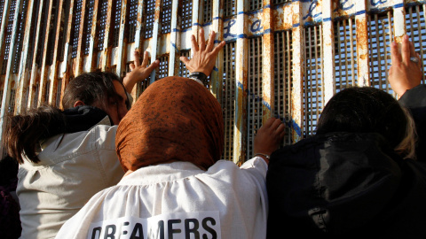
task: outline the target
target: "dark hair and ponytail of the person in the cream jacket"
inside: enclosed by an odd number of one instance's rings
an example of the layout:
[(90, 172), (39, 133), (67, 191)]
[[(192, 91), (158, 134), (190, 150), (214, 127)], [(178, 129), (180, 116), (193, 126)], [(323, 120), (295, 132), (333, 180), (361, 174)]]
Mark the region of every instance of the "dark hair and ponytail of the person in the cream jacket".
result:
[[(76, 101), (86, 105), (96, 103), (106, 107), (109, 97), (116, 97), (113, 81), (120, 81), (115, 73), (83, 73), (70, 81), (62, 99), (64, 109), (73, 108)], [(120, 81), (121, 82), (121, 81)], [(104, 108), (105, 109), (105, 108)], [(22, 154), (34, 163), (40, 162), (37, 148), (40, 141), (65, 133), (67, 120), (58, 108), (44, 105), (26, 114), (12, 116), (4, 134), (7, 153), (22, 164)]]

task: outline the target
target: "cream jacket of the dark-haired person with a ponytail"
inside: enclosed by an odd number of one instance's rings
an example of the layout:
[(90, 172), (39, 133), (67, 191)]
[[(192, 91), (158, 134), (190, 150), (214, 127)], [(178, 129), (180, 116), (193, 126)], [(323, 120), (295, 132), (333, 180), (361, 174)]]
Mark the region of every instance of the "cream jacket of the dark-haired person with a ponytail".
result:
[(66, 220), (102, 189), (119, 182), (117, 126), (106, 116), (88, 131), (56, 135), (42, 144), (41, 162), (20, 165), (21, 238), (53, 238)]

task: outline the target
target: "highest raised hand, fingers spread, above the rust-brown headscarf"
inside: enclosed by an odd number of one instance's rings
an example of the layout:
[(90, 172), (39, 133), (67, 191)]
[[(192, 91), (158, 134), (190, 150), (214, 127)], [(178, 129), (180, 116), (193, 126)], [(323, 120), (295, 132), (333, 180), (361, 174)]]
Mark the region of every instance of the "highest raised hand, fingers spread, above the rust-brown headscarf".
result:
[(185, 64), (186, 68), (191, 73), (201, 72), (209, 75), (213, 70), (213, 67), (216, 64), (217, 53), (225, 46), (225, 41), (220, 42), (216, 47), (215, 46), (215, 36), (214, 31), (211, 32), (209, 36), (209, 42), (206, 46), (206, 41), (204, 38), (204, 30), (201, 28), (199, 33), (199, 41), (195, 40), (195, 36), (191, 36), (193, 58), (189, 60), (186, 57), (180, 57), (180, 60)]

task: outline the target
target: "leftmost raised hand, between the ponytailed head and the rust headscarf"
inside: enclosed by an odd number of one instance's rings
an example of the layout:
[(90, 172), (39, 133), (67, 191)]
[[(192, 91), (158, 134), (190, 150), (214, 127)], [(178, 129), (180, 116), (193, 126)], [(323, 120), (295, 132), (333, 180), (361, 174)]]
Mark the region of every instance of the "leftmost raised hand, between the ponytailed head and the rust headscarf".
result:
[(144, 81), (154, 71), (154, 69), (160, 66), (160, 61), (157, 59), (151, 65), (148, 66), (148, 52), (145, 51), (144, 59), (142, 64), (140, 63), (139, 52), (135, 50), (134, 61), (130, 64), (130, 73), (127, 73), (122, 84), (126, 88), (127, 92), (131, 93), (131, 90), (136, 83)]

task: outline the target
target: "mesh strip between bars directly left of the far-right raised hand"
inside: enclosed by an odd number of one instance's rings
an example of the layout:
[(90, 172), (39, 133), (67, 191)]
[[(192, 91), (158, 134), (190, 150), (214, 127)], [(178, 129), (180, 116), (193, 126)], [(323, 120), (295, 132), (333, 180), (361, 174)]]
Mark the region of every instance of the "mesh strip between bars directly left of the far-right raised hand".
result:
[(371, 86), (392, 92), (387, 81), (390, 61), (390, 42), (393, 41), (391, 12), (368, 16), (368, 48)]

